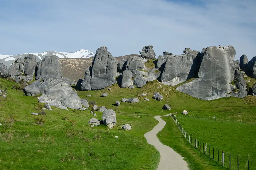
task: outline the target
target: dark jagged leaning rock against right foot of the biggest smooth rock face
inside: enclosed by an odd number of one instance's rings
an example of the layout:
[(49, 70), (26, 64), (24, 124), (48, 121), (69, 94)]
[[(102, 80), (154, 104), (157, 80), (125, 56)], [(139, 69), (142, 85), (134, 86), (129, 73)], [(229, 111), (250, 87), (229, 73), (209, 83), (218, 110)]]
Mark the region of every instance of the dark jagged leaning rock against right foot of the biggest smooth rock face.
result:
[(238, 97), (238, 98), (243, 98), (247, 96), (247, 91), (246, 91), (246, 81), (243, 78), (242, 73), (239, 70), (235, 71), (235, 84), (236, 87), (239, 89), (239, 92), (233, 92), (230, 95), (233, 97)]

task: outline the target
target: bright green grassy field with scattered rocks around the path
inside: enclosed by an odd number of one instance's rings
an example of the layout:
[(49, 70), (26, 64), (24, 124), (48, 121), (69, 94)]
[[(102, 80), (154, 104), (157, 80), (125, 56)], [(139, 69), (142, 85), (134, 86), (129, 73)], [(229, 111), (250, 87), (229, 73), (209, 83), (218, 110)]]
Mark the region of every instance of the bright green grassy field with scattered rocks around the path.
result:
[[(1, 89), (7, 88), (8, 93), (7, 99), (0, 101), (0, 123), (3, 124), (0, 126), (0, 169), (156, 169), (159, 153), (147, 144), (143, 135), (158, 123), (154, 116), (174, 112), (178, 112), (178, 120), (194, 137), (232, 154), (256, 157), (253, 136), (256, 105), (253, 102), (245, 104), (243, 99), (230, 97), (202, 101), (157, 81), (143, 88), (121, 89), (114, 84), (111, 91), (78, 91), (80, 98), (89, 103), (95, 101), (99, 107), (103, 105), (116, 112), (115, 128), (106, 130), (108, 127), (103, 125), (87, 126), (93, 117), (90, 109), (67, 111), (52, 107), (49, 113), (30, 115), (31, 112), (41, 112), (44, 104), (38, 103), (36, 97), (25, 96), (23, 91), (13, 89), (13, 82), (5, 79), (0, 82)], [(155, 91), (164, 96), (163, 101), (152, 99)], [(103, 92), (108, 96), (100, 97)], [(141, 93), (148, 95), (141, 97)], [(88, 94), (91, 97), (86, 97)], [(130, 97), (138, 97), (140, 102), (121, 102), (120, 106), (114, 106), (116, 100)], [(145, 97), (150, 101), (143, 100)], [(162, 107), (168, 103), (173, 110), (164, 111)], [(181, 115), (182, 110), (188, 110), (189, 115)], [(101, 120), (102, 112), (96, 114)], [(213, 116), (218, 119), (212, 119)], [(36, 124), (38, 119), (44, 123)], [(158, 134), (159, 139), (184, 156), (190, 169), (223, 169), (219, 163), (200, 155), (185, 143), (170, 117), (164, 120), (167, 124)], [(121, 130), (124, 124), (131, 124), (132, 130)], [(184, 149), (181, 150), (177, 146), (182, 141), (181, 148)]]

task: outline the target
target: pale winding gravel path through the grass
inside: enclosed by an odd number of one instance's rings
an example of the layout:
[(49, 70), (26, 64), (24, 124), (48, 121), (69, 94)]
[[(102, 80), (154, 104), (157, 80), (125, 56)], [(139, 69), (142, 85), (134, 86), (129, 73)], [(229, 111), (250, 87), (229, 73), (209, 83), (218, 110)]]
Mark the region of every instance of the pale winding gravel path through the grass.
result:
[[(165, 116), (169, 116), (167, 114)], [(176, 153), (172, 148), (162, 144), (156, 137), (157, 133), (161, 131), (166, 122), (161, 119), (162, 116), (155, 116), (154, 118), (159, 121), (159, 123), (149, 132), (147, 132), (144, 137), (147, 139), (147, 143), (156, 147), (160, 153), (160, 163), (157, 170), (189, 170), (188, 164), (183, 157)]]

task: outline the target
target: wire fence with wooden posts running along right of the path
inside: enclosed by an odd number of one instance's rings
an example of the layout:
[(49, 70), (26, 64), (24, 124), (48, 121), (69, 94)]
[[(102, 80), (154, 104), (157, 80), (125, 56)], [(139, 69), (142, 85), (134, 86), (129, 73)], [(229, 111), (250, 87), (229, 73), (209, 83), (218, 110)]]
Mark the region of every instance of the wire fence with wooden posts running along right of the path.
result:
[(204, 141), (199, 141), (196, 138), (193, 138), (193, 136), (189, 135), (187, 131), (182, 127), (182, 125), (179, 124), (174, 114), (171, 114), (170, 116), (173, 118), (179, 130), (185, 136), (186, 140), (191, 144), (191, 146), (197, 150), (200, 150), (203, 154), (209, 156), (213, 160), (219, 162), (225, 168), (237, 170), (256, 169), (256, 163), (254, 160), (224, 152), (223, 150), (211, 146)]

